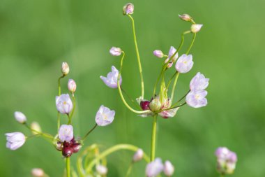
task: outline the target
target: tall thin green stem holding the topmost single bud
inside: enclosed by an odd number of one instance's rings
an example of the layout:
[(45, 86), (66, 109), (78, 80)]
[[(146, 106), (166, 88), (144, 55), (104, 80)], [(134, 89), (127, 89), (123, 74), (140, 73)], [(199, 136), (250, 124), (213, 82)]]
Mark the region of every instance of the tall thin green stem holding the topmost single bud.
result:
[(132, 20), (132, 33), (133, 33), (133, 40), (135, 41), (135, 50), (136, 50), (136, 56), (137, 56), (137, 62), (139, 66), (139, 73), (141, 78), (141, 87), (142, 87), (142, 98), (144, 98), (144, 78), (142, 74), (142, 65), (141, 65), (141, 59), (139, 55), (137, 40), (136, 40), (136, 34), (135, 34), (135, 20), (133, 20), (133, 17), (129, 14), (128, 17), (130, 17), (130, 20)]

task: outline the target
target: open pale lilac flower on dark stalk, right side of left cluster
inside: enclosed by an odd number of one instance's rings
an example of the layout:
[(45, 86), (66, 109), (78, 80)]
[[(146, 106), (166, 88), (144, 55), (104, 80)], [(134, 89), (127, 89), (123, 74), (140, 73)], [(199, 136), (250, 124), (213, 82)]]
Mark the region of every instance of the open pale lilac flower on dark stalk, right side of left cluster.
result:
[(98, 126), (106, 126), (114, 120), (115, 111), (101, 105), (96, 114), (96, 123)]

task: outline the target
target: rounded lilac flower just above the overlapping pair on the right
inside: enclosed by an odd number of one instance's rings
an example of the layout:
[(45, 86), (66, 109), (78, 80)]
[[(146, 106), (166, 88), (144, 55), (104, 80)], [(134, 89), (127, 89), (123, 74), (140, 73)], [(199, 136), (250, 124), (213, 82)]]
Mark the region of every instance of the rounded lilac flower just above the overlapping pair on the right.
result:
[(190, 69), (192, 69), (193, 61), (192, 61), (192, 55), (181, 55), (179, 57), (178, 61), (176, 61), (176, 71), (179, 73), (188, 73)]

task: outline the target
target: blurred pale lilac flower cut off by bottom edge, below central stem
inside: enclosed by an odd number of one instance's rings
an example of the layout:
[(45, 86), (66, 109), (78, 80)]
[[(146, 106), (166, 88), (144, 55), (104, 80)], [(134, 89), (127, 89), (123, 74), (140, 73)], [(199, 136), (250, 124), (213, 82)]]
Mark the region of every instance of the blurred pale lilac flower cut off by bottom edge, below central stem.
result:
[(145, 174), (147, 177), (158, 176), (164, 169), (162, 161), (160, 158), (156, 158), (153, 162), (146, 165)]

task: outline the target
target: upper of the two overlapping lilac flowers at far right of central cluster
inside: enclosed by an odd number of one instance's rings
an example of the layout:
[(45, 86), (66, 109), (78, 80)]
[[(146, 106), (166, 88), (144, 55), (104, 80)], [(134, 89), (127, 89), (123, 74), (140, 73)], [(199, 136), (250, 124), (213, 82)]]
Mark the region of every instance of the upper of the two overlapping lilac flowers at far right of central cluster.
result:
[(202, 73), (197, 73), (190, 81), (190, 90), (204, 90), (209, 85), (209, 78), (205, 78)]

